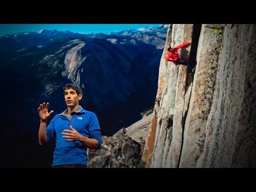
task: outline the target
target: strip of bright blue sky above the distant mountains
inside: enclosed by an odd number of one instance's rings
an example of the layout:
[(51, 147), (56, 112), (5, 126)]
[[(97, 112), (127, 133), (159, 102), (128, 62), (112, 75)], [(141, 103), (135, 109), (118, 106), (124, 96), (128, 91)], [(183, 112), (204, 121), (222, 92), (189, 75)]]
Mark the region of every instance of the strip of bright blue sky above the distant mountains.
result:
[(0, 24), (0, 36), (17, 34), (20, 32), (37, 32), (40, 29), (69, 30), (74, 33), (109, 33), (125, 29), (138, 29), (141, 27), (159, 27), (160, 24)]

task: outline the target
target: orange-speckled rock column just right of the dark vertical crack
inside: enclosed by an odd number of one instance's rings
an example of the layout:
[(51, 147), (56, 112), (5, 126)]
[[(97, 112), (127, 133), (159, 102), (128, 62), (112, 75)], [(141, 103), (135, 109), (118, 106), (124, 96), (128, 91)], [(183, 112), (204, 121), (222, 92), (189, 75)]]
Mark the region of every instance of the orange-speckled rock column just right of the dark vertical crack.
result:
[(194, 167), (202, 154), (205, 124), (210, 112), (218, 69), (222, 33), (202, 26), (197, 48), (197, 67), (186, 118), (180, 167)]

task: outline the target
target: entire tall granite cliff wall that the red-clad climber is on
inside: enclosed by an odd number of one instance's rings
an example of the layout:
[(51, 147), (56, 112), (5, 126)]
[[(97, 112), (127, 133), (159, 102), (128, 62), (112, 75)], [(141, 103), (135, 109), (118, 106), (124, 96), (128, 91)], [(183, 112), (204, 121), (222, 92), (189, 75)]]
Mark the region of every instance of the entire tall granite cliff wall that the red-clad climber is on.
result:
[[(256, 27), (198, 28), (169, 26), (142, 159), (147, 167), (255, 167)], [(194, 75), (164, 60), (169, 45), (192, 40), (180, 55)]]

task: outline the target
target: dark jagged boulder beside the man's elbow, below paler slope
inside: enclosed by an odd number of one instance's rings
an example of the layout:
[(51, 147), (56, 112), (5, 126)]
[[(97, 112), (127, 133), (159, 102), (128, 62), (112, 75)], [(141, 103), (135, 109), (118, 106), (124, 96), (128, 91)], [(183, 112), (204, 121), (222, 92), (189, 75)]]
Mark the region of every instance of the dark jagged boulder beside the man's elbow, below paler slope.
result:
[(99, 150), (89, 149), (88, 168), (143, 168), (143, 146), (127, 135), (102, 137)]

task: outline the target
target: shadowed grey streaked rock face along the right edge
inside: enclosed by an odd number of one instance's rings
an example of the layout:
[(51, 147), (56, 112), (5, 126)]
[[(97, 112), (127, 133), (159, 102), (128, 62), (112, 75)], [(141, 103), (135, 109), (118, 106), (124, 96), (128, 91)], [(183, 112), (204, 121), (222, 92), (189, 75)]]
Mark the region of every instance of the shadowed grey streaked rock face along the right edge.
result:
[(203, 154), (197, 167), (256, 166), (256, 27), (225, 28)]

